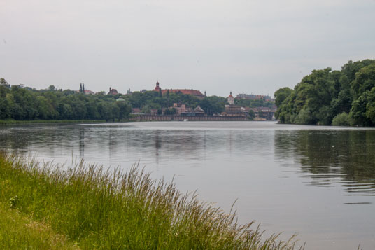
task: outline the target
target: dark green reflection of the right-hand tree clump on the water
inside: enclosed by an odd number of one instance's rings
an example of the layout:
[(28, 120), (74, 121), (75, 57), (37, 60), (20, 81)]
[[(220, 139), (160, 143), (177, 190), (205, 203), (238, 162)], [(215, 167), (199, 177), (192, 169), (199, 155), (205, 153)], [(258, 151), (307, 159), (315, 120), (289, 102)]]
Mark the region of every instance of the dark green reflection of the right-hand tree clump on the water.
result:
[(311, 184), (340, 183), (346, 195), (375, 195), (375, 130), (276, 130), (275, 155)]

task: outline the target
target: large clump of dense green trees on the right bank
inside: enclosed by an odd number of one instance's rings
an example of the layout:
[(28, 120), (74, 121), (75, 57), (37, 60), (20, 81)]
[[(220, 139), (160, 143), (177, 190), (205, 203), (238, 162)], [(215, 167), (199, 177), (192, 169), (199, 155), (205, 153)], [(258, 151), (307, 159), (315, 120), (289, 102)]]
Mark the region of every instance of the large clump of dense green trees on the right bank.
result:
[(292, 90), (275, 92), (281, 123), (375, 125), (375, 60), (349, 61), (340, 71), (313, 70)]

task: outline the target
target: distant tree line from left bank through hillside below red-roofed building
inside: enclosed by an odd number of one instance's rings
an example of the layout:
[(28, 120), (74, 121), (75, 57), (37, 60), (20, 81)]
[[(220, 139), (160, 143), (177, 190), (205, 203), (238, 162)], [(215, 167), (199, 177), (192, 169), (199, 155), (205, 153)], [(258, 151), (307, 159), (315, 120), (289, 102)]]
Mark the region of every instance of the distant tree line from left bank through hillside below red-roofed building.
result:
[[(121, 101), (117, 100), (121, 97)], [(79, 91), (57, 90), (50, 85), (46, 90), (36, 90), (22, 85), (10, 85), (0, 78), (0, 120), (123, 120), (130, 116), (132, 108), (142, 113), (174, 114), (174, 103), (185, 104), (192, 109), (200, 106), (208, 116), (225, 110), (225, 97), (210, 96), (199, 99), (181, 92), (142, 91), (132, 95), (106, 95), (99, 92), (85, 95), (85, 85)], [(264, 99), (235, 99), (239, 106), (272, 106)]]

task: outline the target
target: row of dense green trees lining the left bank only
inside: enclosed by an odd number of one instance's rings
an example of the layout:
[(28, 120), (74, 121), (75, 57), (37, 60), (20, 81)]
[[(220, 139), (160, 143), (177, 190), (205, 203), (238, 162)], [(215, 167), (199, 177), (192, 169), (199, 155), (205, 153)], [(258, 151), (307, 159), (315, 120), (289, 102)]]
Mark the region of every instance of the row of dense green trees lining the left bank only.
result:
[(112, 95), (84, 95), (72, 90), (31, 90), (4, 79), (0, 85), (0, 120), (113, 120), (127, 118), (129, 105)]

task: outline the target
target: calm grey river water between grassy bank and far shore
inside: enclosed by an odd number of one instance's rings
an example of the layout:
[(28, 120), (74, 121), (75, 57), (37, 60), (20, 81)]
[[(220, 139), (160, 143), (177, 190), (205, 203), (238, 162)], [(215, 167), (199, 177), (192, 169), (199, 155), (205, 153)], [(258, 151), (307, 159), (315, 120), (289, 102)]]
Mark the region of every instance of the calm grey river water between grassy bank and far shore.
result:
[(0, 127), (0, 150), (55, 163), (139, 162), (183, 193), (233, 202), (240, 223), (297, 233), (306, 249), (375, 249), (375, 130), (274, 122)]

